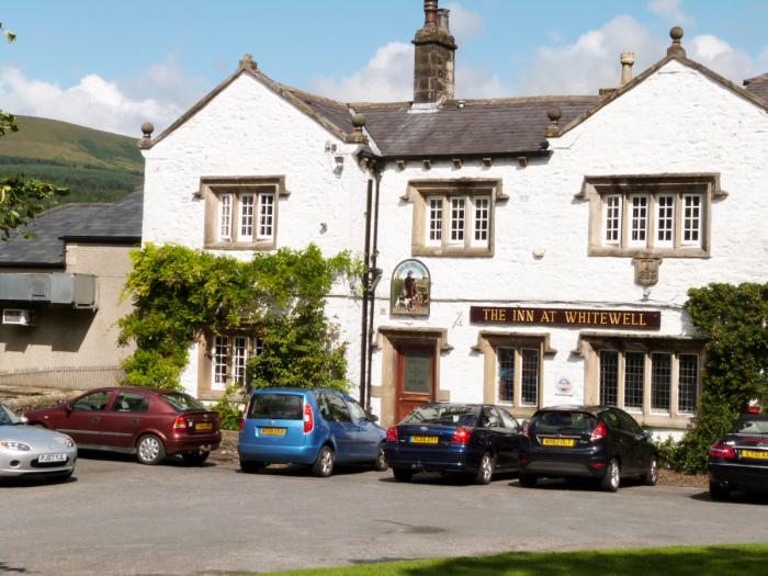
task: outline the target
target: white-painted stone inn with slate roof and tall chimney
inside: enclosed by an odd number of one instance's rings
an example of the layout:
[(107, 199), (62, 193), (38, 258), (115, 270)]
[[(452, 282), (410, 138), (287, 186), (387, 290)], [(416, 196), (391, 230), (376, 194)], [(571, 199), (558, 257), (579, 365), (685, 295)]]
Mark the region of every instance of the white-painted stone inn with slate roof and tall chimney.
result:
[[(685, 429), (703, 366), (687, 291), (768, 278), (768, 81), (725, 80), (673, 29), (599, 97), (456, 100), (448, 11), (425, 13), (414, 102), (335, 102), (247, 56), (147, 126), (143, 241), (364, 258), (363, 295), (339, 283), (328, 314), (384, 425), (450, 399), (612, 404)], [(256, 352), (201, 335), (183, 384), (215, 397)]]

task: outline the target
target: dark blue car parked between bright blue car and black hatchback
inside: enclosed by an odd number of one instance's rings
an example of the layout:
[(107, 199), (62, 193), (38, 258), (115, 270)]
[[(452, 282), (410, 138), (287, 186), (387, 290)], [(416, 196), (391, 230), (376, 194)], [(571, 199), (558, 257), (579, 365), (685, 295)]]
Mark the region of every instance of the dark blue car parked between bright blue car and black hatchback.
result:
[(492, 404), (425, 404), (386, 433), (395, 478), (416, 472), (458, 472), (488, 484), (496, 471), (517, 471), (520, 425)]

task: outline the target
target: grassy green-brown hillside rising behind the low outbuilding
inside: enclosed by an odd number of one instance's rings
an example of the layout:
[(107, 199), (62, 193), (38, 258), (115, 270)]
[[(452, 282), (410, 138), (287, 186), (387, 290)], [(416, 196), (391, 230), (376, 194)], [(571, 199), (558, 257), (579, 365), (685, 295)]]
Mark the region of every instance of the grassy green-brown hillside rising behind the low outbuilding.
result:
[(143, 181), (136, 139), (56, 120), (16, 116), (0, 138), (0, 178), (24, 173), (70, 189), (61, 202), (114, 202)]

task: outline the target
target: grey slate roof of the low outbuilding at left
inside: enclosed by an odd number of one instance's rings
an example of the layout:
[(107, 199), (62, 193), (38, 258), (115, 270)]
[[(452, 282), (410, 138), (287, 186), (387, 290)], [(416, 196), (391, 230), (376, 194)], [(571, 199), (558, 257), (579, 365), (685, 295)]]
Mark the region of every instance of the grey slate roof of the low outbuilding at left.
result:
[(65, 240), (105, 244), (142, 241), (144, 191), (137, 189), (114, 204), (63, 204), (26, 227), (34, 238), (15, 234), (0, 241), (0, 267), (64, 268)]

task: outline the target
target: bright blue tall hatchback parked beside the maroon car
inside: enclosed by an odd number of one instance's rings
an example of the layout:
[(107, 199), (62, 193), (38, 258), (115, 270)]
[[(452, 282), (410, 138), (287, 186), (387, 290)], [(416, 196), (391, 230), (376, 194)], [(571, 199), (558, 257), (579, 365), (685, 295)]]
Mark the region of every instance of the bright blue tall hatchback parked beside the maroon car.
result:
[(326, 477), (338, 462), (371, 463), (384, 471), (386, 431), (377, 420), (334, 389), (256, 391), (240, 421), (240, 470), (306, 464), (315, 476)]

